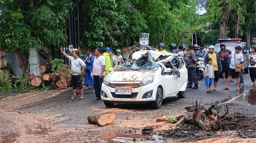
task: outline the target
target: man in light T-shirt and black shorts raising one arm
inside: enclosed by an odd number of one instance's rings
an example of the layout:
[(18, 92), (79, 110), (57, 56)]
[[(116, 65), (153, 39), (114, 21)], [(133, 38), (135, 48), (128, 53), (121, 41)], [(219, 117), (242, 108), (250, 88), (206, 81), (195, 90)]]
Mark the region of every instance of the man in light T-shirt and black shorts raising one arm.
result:
[(85, 96), (84, 96), (84, 89), (82, 87), (82, 82), (81, 82), (81, 75), (85, 71), (86, 64), (82, 59), (78, 57), (79, 52), (77, 50), (72, 52), (72, 57), (66, 54), (65, 52), (63, 52), (62, 46), (60, 50), (63, 56), (68, 58), (69, 61), (71, 62), (70, 73), (71, 73), (71, 85), (73, 86), (73, 96), (70, 99), (74, 99), (78, 97), (77, 88), (80, 90), (80, 93), (81, 93), (80, 99), (84, 99)]

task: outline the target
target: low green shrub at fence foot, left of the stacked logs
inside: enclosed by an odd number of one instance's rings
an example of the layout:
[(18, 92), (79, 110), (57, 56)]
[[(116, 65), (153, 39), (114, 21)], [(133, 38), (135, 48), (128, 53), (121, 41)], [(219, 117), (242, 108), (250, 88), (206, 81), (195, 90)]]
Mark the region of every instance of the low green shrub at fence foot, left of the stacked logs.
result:
[(28, 79), (28, 77), (26, 77), (25, 75), (21, 75), (20, 77), (12, 77), (13, 81), (14, 81), (14, 89), (22, 89), (22, 90), (26, 90), (31, 88), (31, 83), (30, 80)]

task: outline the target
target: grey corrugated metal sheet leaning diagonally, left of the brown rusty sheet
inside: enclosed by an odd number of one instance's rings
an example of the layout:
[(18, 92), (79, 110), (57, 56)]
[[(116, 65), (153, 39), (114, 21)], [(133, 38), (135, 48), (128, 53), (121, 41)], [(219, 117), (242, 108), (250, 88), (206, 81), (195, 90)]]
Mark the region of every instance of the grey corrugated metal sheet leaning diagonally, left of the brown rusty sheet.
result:
[(16, 77), (20, 77), (22, 75), (21, 68), (19, 67), (19, 63), (13, 52), (7, 52), (7, 60), (9, 65), (12, 67), (12, 71)]

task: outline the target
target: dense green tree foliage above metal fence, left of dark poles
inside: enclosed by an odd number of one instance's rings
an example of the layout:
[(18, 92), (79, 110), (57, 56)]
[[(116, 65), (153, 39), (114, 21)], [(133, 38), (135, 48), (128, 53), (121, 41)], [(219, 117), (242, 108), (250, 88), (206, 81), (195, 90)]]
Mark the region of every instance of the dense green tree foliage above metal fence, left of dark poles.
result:
[(71, 0), (1, 0), (0, 47), (14, 52), (59, 45)]

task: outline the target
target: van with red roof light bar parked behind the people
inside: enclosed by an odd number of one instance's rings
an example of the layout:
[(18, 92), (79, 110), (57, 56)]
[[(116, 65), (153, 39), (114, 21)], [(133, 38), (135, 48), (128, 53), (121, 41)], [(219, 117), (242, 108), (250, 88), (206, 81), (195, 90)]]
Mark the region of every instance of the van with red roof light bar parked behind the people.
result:
[(214, 52), (219, 52), (221, 50), (221, 43), (225, 44), (226, 49), (230, 50), (231, 52), (235, 51), (235, 46), (242, 47), (242, 54), (244, 56), (244, 73), (248, 73), (248, 66), (249, 66), (249, 48), (246, 42), (241, 42), (242, 39), (218, 39)]

